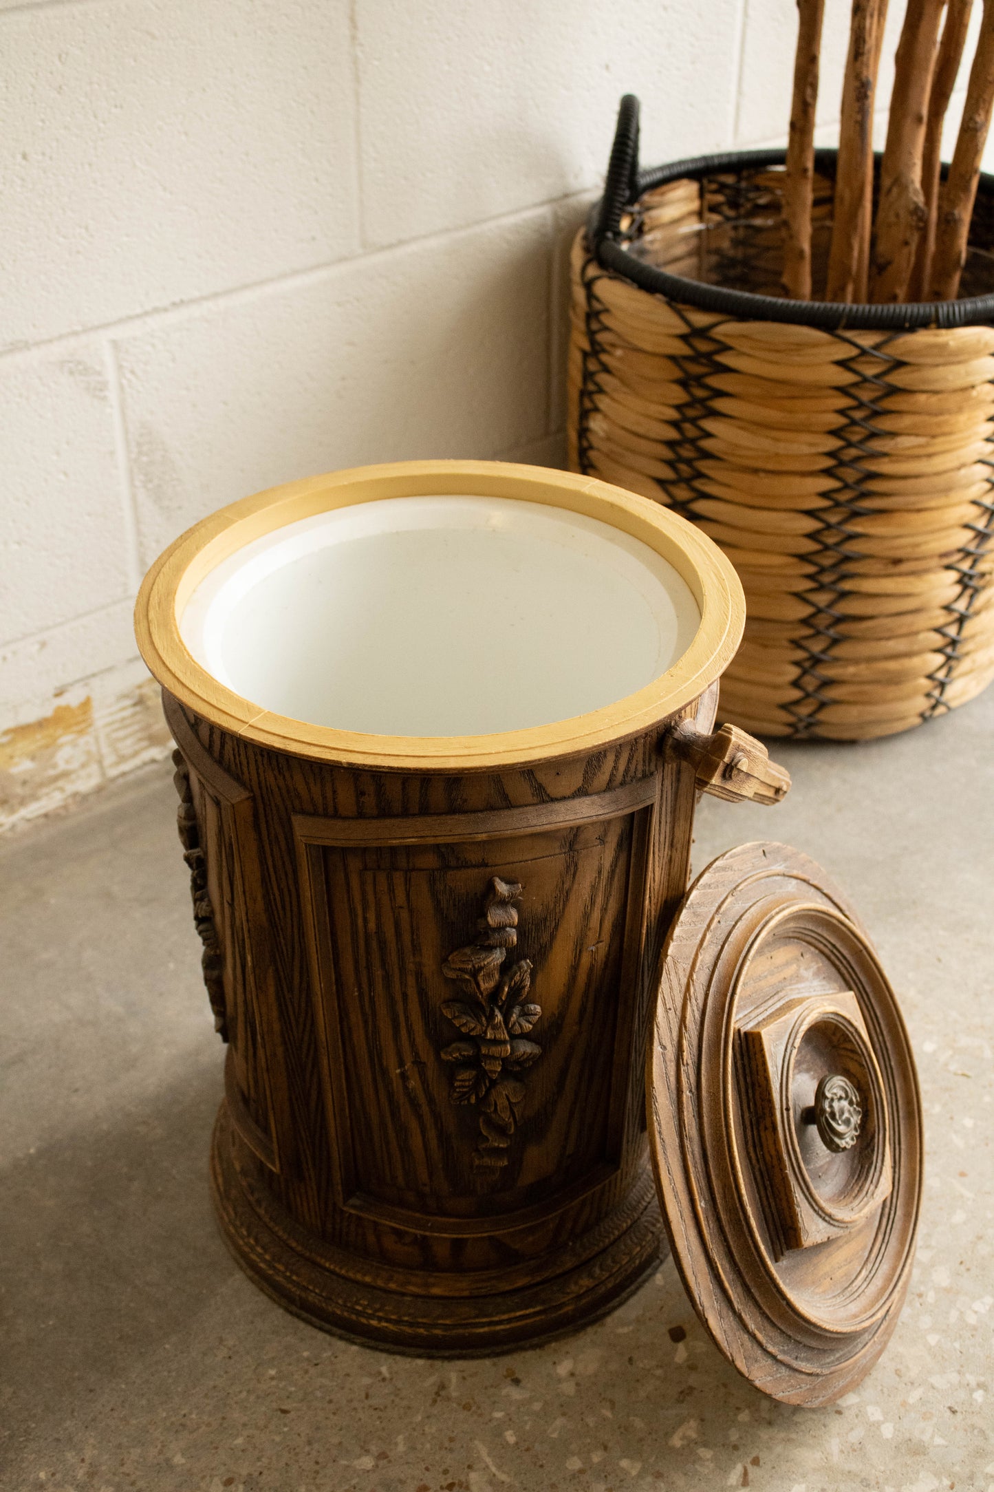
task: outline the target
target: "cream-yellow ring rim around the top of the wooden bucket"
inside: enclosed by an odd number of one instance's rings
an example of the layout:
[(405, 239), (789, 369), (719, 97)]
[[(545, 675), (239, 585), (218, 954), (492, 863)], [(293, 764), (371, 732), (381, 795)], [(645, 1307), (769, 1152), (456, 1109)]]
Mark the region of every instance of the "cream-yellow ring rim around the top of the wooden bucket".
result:
[[(474, 492), (547, 503), (641, 539), (690, 586), (700, 627), (683, 658), (636, 694), (589, 715), (493, 736), (364, 736), (261, 710), (213, 679), (185, 648), (179, 618), (192, 591), (253, 539), (314, 513), (386, 497)], [(650, 730), (696, 700), (735, 655), (745, 597), (721, 551), (666, 507), (593, 477), (501, 461), (398, 461), (274, 486), (222, 507), (159, 555), (142, 583), (134, 631), (149, 670), (170, 694), (222, 730), (316, 761), (398, 771), (468, 771), (593, 750)]]

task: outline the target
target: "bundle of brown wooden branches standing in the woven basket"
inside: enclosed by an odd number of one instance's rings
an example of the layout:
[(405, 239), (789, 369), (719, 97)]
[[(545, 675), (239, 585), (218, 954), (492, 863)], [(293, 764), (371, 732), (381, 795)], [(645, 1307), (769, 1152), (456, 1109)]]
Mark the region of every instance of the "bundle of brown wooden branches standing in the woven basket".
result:
[[(908, 0), (873, 221), (873, 107), (887, 0), (852, 0), (826, 300), (954, 300), (966, 263), (981, 158), (994, 107), (994, 0), (982, 0), (976, 54), (952, 163), (940, 181), (942, 125), (972, 0)], [(800, 18), (784, 179), (784, 291), (809, 300), (814, 134), (824, 0)]]

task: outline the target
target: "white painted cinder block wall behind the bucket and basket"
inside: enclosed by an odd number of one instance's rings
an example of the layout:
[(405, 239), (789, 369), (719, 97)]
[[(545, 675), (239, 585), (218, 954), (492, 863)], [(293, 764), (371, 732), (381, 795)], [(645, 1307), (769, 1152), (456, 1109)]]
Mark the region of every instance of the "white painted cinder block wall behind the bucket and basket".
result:
[(793, 0), (0, 0), (0, 824), (167, 749), (131, 606), (212, 509), (557, 463), (565, 245), (618, 95), (647, 164), (782, 140), (794, 28)]

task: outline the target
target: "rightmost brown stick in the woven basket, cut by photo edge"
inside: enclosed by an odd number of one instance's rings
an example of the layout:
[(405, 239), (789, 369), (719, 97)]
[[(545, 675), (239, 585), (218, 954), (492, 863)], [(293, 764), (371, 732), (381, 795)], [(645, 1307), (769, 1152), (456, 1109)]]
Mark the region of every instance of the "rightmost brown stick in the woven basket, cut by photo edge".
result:
[(954, 300), (966, 263), (966, 245), (973, 215), (981, 158), (994, 106), (994, 0), (984, 0), (981, 36), (970, 69), (963, 122), (945, 186), (939, 192), (936, 251), (931, 266), (931, 295)]

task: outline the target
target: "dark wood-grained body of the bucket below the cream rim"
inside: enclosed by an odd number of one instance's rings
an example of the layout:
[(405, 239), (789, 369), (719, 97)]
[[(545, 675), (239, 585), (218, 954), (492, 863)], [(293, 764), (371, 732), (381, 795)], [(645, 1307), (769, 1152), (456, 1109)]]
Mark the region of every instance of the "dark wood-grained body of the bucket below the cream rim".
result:
[[(684, 716), (709, 728), (715, 694)], [(225, 1001), (240, 1010), (252, 991), (255, 1010), (231, 1025), (235, 1097), (212, 1162), (238, 1261), (308, 1320), (396, 1350), (493, 1352), (601, 1314), (662, 1240), (650, 974), (686, 891), (697, 791), (660, 750), (669, 722), (535, 768), (404, 774), (267, 750), (168, 697), (167, 718), (198, 827), (210, 803), (250, 806), (252, 834), (243, 809), (237, 849), (207, 850), (212, 886), (212, 861), (241, 867), (218, 892), (240, 928), (221, 937)], [(250, 959), (228, 952), (247, 937)], [(486, 1010), (463, 1029), (452, 974), (495, 952), (508, 998), (495, 1012), (501, 985), (484, 977)], [(270, 1073), (256, 1092), (241, 1074), (261, 1031), (282, 1088)], [(455, 1061), (460, 1041), (474, 1049)], [(505, 1071), (513, 1043), (539, 1047), (522, 1077)], [(460, 1071), (489, 1079), (477, 1103), (453, 1103)], [(481, 1110), (508, 1076), (508, 1112)], [(261, 1103), (277, 1089), (283, 1104)], [(480, 1165), (481, 1138), (507, 1141), (499, 1165)]]

